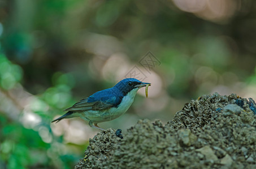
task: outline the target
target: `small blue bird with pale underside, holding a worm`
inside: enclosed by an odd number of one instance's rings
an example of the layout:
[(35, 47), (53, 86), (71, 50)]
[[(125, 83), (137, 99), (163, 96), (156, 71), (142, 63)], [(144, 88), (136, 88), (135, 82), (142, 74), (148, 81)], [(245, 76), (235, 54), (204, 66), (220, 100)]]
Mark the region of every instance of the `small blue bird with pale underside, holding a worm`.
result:
[(65, 118), (80, 117), (89, 121), (89, 126), (104, 130), (98, 123), (111, 121), (123, 115), (132, 105), (137, 91), (151, 83), (141, 82), (136, 78), (125, 78), (114, 87), (95, 92), (93, 95), (80, 100), (64, 111), (68, 111), (52, 122)]

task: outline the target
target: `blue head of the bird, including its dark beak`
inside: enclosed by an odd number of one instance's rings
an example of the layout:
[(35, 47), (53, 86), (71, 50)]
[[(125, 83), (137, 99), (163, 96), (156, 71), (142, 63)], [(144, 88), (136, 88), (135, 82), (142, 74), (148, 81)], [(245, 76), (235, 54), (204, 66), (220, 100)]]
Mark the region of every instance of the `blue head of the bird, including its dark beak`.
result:
[(124, 95), (127, 95), (131, 91), (137, 92), (141, 87), (145, 87), (147, 84), (151, 83), (141, 82), (134, 78), (126, 78), (118, 82), (114, 88), (118, 88)]

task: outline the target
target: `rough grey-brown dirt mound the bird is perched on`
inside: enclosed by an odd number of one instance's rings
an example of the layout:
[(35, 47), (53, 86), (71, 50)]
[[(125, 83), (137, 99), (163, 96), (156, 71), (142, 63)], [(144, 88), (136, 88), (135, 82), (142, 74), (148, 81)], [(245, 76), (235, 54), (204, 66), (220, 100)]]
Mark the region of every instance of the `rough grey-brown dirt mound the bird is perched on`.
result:
[(166, 126), (140, 120), (123, 139), (98, 133), (75, 168), (256, 168), (255, 106), (234, 94), (199, 97)]

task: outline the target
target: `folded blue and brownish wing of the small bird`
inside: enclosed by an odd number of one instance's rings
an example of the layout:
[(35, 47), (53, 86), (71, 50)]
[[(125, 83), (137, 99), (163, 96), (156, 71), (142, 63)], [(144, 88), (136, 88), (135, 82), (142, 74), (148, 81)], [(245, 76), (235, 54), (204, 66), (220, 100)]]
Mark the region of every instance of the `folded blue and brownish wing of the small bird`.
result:
[(118, 106), (123, 96), (116, 93), (112, 88), (98, 91), (90, 97), (80, 100), (64, 111), (85, 112), (88, 110), (103, 110)]

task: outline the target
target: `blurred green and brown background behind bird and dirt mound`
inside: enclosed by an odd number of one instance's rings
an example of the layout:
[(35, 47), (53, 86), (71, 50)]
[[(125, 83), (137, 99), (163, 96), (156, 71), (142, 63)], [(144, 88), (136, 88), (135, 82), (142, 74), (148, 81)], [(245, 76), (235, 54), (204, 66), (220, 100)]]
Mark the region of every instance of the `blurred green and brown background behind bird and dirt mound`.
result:
[(215, 91), (256, 99), (255, 32), (253, 0), (0, 0), (0, 168), (73, 168), (98, 130), (50, 122), (135, 74), (149, 98), (102, 128), (166, 123)]

